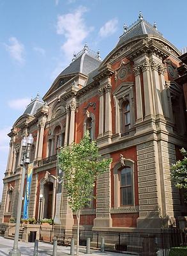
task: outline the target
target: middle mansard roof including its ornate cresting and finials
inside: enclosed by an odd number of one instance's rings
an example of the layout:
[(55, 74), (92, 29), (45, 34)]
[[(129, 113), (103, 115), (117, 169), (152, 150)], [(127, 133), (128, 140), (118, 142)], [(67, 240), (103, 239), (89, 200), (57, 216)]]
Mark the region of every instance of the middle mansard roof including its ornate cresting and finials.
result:
[(99, 67), (100, 64), (99, 52), (93, 52), (85, 45), (82, 51), (78, 54), (73, 54), (72, 62), (59, 76), (78, 72), (87, 75), (95, 68)]

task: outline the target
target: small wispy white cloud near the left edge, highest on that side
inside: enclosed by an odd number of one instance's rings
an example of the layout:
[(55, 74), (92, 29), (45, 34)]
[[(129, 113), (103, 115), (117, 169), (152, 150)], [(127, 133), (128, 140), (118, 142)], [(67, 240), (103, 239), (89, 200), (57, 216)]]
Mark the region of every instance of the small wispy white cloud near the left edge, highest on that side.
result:
[(24, 63), (24, 45), (17, 40), (15, 37), (9, 38), (10, 44), (4, 44), (6, 51), (9, 52), (11, 58), (18, 61), (19, 63)]

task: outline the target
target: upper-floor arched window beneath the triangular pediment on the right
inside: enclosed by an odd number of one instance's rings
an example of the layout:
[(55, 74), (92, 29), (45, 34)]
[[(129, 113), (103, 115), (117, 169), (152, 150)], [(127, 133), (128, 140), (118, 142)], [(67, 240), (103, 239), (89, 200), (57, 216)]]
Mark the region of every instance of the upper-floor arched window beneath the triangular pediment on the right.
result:
[(130, 102), (126, 101), (123, 102), (122, 104), (122, 122), (123, 122), (123, 127), (122, 127), (122, 132), (121, 133), (126, 133), (130, 129)]

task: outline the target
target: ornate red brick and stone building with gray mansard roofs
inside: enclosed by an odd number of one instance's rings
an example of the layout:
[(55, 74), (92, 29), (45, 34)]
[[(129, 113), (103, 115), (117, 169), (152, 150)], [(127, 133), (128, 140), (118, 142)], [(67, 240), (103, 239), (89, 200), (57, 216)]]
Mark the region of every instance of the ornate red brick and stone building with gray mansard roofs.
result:
[(63, 186), (57, 197), (56, 154), (59, 147), (79, 142), (87, 129), (101, 156), (112, 157), (112, 164), (96, 180), (96, 199), (82, 210), (81, 228), (150, 230), (184, 214), (170, 180), (170, 166), (186, 147), (183, 86), (176, 82), (180, 55), (142, 13), (129, 28), (124, 26), (103, 61), (87, 45), (74, 54), (43, 100), (32, 100), (8, 134), (1, 222), (16, 216), (20, 141), (32, 133), (29, 216), (56, 218), (58, 208), (61, 227), (76, 227)]

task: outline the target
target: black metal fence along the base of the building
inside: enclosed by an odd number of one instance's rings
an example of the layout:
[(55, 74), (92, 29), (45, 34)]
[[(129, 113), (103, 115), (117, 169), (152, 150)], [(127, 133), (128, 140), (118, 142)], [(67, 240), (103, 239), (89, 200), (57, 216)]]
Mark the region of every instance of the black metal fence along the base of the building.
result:
[[(64, 239), (67, 237), (77, 240), (77, 230), (56, 230), (57, 237)], [(147, 255), (168, 256), (169, 250), (176, 246), (187, 246), (187, 232), (177, 228), (163, 229), (159, 233), (147, 234), (137, 232), (105, 232), (80, 230), (80, 245), (86, 246), (87, 238), (91, 240), (91, 248), (98, 249), (101, 245), (101, 238), (105, 238), (105, 250), (116, 252), (135, 252), (139, 255), (146, 252)]]

